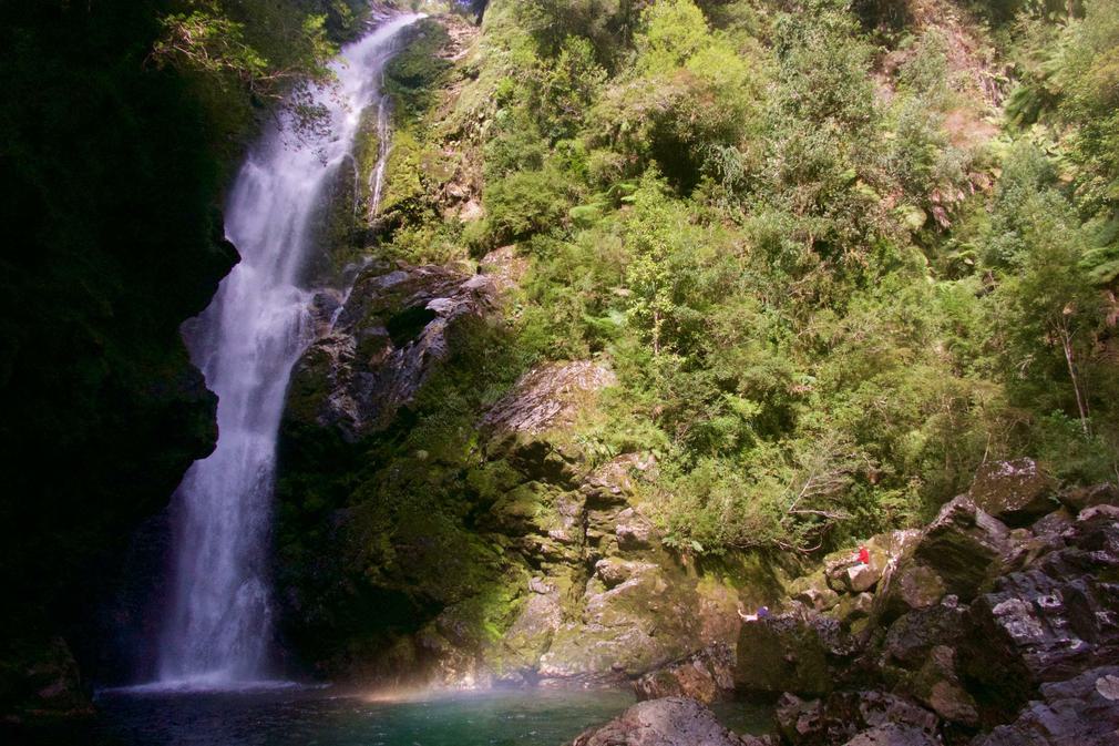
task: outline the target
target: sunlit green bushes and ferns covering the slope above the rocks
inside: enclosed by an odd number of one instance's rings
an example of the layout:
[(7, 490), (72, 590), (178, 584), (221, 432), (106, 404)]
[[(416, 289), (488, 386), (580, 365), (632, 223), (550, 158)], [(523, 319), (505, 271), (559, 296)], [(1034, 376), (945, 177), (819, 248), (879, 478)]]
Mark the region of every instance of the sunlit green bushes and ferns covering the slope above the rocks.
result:
[(576, 439), (657, 454), (685, 552), (911, 524), (999, 456), (1115, 479), (1117, 35), (1100, 1), (492, 2), (444, 124), (487, 121), (485, 216), (420, 185), (385, 251), (516, 244), (511, 360), (618, 371)]

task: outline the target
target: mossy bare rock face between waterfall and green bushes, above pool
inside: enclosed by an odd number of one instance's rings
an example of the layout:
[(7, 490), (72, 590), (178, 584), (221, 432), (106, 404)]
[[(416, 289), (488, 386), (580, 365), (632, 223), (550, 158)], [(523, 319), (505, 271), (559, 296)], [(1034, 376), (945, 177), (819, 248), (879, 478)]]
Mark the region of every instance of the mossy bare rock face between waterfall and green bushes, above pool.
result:
[[(292, 646), (333, 678), (451, 687), (622, 683), (732, 650), (737, 593), (669, 553), (637, 500), (656, 459), (591, 468), (570, 437), (614, 374), (549, 363), (479, 395), (508, 370), (500, 302), (490, 276), (441, 267), (370, 265), (345, 302), (320, 296), (281, 438)], [(709, 673), (714, 698), (728, 666)]]

